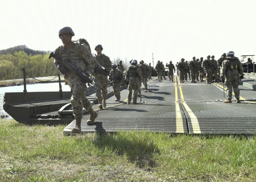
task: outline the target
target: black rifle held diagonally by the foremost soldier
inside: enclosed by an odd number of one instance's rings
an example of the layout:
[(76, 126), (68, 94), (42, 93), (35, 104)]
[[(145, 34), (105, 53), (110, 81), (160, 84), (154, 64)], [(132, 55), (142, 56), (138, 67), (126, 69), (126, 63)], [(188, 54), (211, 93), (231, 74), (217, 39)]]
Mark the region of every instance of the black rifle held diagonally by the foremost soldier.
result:
[[(81, 78), (81, 81), (83, 83), (87, 83), (88, 87), (92, 87), (92, 85), (96, 85), (97, 87), (99, 87), (100, 89), (102, 89), (104, 91), (104, 88), (102, 88), (100, 85), (98, 85), (93, 80), (91, 80), (84, 72), (82, 72), (78, 67), (76, 67), (72, 63), (68, 62), (67, 60), (62, 60), (58, 55), (54, 54), (53, 52), (50, 53), (49, 59), (51, 57), (56, 59), (56, 61), (61, 63), (64, 67), (68, 68), (68, 70), (74, 71), (74, 73), (76, 73), (76, 75), (78, 75), (78, 77)], [(101, 92), (101, 91), (99, 91), (98, 89), (96, 89), (94, 87), (92, 87), (92, 88), (95, 91)]]

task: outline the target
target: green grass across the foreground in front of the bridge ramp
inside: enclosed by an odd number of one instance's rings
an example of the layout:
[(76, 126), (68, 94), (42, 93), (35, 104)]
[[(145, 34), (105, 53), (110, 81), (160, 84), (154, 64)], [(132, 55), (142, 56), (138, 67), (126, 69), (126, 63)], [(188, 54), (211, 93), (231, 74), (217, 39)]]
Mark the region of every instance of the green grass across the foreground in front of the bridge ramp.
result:
[(256, 179), (256, 137), (88, 133), (0, 119), (0, 181), (239, 181)]

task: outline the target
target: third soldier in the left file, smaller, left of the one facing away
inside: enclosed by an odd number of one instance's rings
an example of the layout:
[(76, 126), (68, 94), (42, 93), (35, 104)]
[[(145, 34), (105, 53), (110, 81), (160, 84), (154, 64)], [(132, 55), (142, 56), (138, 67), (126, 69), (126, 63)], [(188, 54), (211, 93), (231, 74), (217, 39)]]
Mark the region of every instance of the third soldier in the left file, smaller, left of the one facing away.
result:
[(116, 96), (115, 101), (120, 101), (120, 87), (123, 81), (123, 72), (116, 68), (116, 64), (112, 64), (112, 70), (109, 73), (109, 81), (113, 86), (114, 95)]

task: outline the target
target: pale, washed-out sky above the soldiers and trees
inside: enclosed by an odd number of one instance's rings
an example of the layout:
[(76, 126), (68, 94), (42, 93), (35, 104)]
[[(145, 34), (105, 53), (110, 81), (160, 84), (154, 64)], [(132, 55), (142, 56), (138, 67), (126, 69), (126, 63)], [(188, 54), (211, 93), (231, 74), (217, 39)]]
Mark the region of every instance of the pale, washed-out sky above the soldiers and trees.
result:
[[(166, 64), (234, 51), (256, 55), (256, 0), (0, 0), (0, 50), (54, 51), (58, 31), (103, 46), (110, 60)], [(153, 56), (152, 56), (153, 55)]]

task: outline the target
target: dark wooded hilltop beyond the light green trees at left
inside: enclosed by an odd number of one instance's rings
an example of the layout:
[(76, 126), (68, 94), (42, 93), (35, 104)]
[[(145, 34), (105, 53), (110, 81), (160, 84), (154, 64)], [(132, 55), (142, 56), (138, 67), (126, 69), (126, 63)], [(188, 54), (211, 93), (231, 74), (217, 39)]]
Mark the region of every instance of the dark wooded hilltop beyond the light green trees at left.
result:
[(33, 49), (28, 48), (26, 45), (18, 45), (15, 47), (10, 47), (8, 49), (3, 49), (0, 50), (0, 54), (13, 54), (14, 52), (18, 52), (18, 51), (24, 51), (25, 53), (27, 53), (28, 55), (36, 55), (36, 54), (46, 54), (46, 53), (50, 53), (50, 51), (35, 51)]

